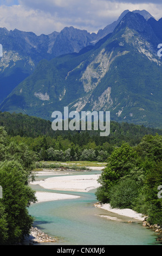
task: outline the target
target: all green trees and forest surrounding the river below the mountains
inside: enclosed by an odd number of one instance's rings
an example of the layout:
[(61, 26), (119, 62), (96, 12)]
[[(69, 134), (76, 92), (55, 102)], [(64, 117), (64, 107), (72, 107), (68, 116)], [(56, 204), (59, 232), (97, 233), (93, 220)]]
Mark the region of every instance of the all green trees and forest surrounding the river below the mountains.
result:
[(43, 160), (107, 162), (96, 198), (162, 225), (161, 130), (111, 122), (111, 135), (103, 139), (96, 131), (54, 132), (50, 121), (9, 113), (0, 113), (0, 125), (1, 245), (20, 243), (30, 234), (34, 220), (28, 207), (36, 197), (28, 184), (33, 169), (47, 167)]

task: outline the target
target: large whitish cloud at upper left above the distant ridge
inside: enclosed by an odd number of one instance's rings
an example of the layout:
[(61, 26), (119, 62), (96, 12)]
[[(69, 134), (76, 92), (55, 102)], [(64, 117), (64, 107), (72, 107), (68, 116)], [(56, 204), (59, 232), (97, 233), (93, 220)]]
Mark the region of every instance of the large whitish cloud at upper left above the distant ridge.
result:
[(12, 7), (0, 6), (0, 27), (20, 29), (21, 31), (32, 31), (36, 34), (49, 34), (61, 30), (64, 23), (41, 10), (26, 9), (21, 5)]

